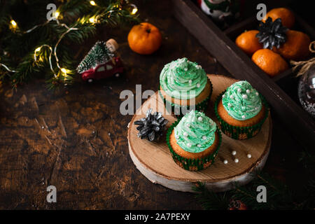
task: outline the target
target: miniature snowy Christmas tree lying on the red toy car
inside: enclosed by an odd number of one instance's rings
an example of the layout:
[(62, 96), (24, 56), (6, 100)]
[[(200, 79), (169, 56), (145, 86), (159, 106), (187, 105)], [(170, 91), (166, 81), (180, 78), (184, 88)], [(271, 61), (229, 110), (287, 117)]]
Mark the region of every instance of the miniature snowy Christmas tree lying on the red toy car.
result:
[(104, 41), (97, 41), (93, 48), (87, 53), (82, 62), (76, 68), (78, 73), (83, 73), (92, 67), (97, 66), (97, 64), (104, 64), (109, 61), (114, 56), (114, 54), (106, 47)]

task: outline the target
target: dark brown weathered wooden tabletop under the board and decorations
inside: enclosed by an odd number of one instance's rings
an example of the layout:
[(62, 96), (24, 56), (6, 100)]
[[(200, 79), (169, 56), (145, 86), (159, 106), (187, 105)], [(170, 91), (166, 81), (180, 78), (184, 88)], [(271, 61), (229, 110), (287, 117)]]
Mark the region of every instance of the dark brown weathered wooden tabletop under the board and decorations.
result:
[[(78, 62), (97, 40), (115, 38), (125, 63), (124, 76), (94, 85), (76, 84), (52, 92), (45, 80), (31, 80), (0, 93), (0, 209), (201, 209), (191, 193), (148, 181), (128, 153), (127, 125), (119, 112), (120, 92), (137, 84), (158, 90), (162, 67), (188, 57), (207, 73), (230, 76), (172, 17), (169, 1), (139, 1), (141, 19), (162, 31), (163, 44), (150, 56), (127, 44), (130, 27), (102, 29), (78, 51)], [(272, 150), (265, 170), (299, 188), (300, 145), (274, 118)], [(153, 155), (154, 156), (154, 155)], [(46, 202), (56, 186), (57, 203)]]

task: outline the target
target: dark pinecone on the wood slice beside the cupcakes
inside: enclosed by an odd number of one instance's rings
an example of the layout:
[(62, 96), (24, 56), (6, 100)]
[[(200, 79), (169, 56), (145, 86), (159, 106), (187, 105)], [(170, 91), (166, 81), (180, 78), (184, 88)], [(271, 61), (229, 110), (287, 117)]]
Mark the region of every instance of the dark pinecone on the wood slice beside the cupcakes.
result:
[(137, 127), (138, 137), (141, 139), (148, 138), (149, 141), (158, 140), (165, 130), (165, 125), (169, 122), (162, 117), (162, 113), (154, 112), (151, 114), (152, 109), (146, 112), (146, 118), (141, 118), (134, 122)]

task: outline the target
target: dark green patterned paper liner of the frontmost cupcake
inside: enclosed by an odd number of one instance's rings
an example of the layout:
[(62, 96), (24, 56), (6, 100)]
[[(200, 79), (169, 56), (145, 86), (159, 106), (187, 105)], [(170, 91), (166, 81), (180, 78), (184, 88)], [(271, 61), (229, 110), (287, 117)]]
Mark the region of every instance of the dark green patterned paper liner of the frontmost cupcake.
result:
[(188, 159), (175, 153), (171, 144), (169, 143), (169, 137), (172, 134), (174, 127), (179, 123), (179, 121), (180, 119), (176, 120), (176, 122), (174, 122), (171, 125), (171, 127), (169, 127), (169, 129), (167, 130), (167, 137), (166, 137), (167, 146), (169, 146), (169, 151), (172, 154), (172, 158), (174, 162), (176, 162), (176, 164), (179, 165), (181, 168), (187, 169), (189, 171), (199, 171), (202, 169), (206, 169), (207, 167), (209, 167), (211, 164), (214, 163), (214, 159), (216, 158), (216, 155), (218, 154), (219, 148), (221, 146), (222, 136), (221, 136), (220, 130), (219, 129), (216, 130), (216, 132), (218, 132), (219, 141), (218, 141), (218, 146), (216, 150), (214, 151), (214, 153), (211, 153), (210, 155), (207, 155), (206, 157), (200, 158), (200, 159)]

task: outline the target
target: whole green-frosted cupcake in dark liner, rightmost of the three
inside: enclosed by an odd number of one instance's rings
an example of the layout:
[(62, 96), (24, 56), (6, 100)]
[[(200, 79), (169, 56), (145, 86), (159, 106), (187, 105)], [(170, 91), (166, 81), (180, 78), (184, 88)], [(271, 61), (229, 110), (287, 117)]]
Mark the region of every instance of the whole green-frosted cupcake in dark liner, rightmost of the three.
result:
[(265, 99), (244, 80), (222, 92), (214, 110), (222, 132), (233, 139), (254, 137), (269, 114)]

